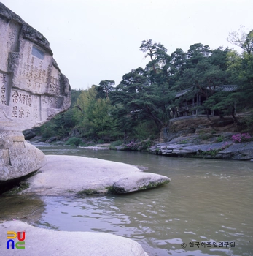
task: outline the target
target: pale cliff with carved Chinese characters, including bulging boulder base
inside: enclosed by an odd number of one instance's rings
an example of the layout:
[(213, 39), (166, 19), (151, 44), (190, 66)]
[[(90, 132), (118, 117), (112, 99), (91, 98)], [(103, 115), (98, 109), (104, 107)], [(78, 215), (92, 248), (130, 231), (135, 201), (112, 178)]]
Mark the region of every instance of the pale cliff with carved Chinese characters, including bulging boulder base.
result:
[(0, 181), (7, 181), (45, 164), (22, 131), (67, 110), (71, 92), (47, 39), (1, 3), (0, 59)]

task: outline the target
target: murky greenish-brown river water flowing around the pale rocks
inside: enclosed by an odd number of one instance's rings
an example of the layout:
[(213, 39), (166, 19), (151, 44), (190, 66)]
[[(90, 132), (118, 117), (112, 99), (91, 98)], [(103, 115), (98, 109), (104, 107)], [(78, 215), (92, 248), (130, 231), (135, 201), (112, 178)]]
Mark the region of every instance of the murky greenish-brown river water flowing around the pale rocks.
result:
[(44, 154), (137, 165), (168, 176), (171, 182), (128, 195), (0, 197), (0, 218), (20, 216), (37, 227), (125, 236), (139, 242), (150, 256), (253, 255), (253, 162), (39, 148)]

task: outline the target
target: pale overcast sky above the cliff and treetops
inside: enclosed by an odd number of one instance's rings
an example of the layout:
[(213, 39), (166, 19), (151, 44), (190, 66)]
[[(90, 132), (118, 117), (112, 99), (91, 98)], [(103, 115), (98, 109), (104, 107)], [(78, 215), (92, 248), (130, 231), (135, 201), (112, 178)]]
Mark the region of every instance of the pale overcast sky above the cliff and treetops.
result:
[[(0, 0), (50, 42), (73, 89), (115, 80), (145, 67), (141, 41), (171, 54), (201, 42), (223, 46), (228, 34), (253, 28), (252, 0)], [(238, 50), (238, 48), (235, 48)]]

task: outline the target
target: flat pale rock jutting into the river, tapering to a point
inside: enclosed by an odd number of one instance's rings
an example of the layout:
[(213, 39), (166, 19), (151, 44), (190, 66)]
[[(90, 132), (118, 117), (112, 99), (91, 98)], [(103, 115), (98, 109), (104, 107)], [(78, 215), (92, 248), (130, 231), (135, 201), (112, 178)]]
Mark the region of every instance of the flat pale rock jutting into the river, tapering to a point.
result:
[(23, 193), (125, 193), (167, 184), (170, 178), (142, 173), (137, 167), (96, 158), (47, 155), (47, 164), (26, 181)]

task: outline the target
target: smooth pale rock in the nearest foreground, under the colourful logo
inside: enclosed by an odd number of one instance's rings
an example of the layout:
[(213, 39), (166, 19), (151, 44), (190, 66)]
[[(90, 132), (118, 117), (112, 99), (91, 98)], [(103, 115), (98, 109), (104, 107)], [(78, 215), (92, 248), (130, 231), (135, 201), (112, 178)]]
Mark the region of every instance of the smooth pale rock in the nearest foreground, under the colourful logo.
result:
[[(7, 231), (25, 231), (24, 249), (7, 249)], [(12, 239), (15, 243), (17, 238)], [(9, 221), (0, 224), (0, 251), (2, 255), (54, 256), (147, 256), (136, 241), (109, 233), (67, 232), (33, 227), (25, 222)]]

